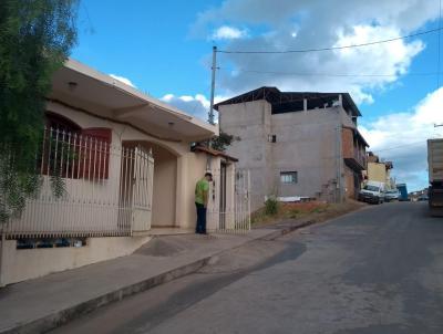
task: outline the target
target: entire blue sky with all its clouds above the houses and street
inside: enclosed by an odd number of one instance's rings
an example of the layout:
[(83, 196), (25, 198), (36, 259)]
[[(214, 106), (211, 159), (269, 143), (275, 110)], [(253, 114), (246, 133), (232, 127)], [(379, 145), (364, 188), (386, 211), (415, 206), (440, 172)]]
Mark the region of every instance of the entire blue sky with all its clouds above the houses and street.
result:
[[(383, 40), (439, 27), (439, 0), (83, 0), (72, 58), (205, 117), (212, 46), (288, 50)], [(261, 85), (350, 92), (360, 131), (410, 189), (427, 184), (425, 139), (443, 135), (437, 90), (439, 34), (349, 51), (289, 55), (219, 54), (217, 98)], [(443, 42), (443, 41), (442, 41)], [(442, 56), (443, 62), (443, 56)], [(254, 74), (389, 74), (330, 77)], [(414, 75), (434, 73), (433, 75)], [(441, 77), (443, 81), (443, 76)]]

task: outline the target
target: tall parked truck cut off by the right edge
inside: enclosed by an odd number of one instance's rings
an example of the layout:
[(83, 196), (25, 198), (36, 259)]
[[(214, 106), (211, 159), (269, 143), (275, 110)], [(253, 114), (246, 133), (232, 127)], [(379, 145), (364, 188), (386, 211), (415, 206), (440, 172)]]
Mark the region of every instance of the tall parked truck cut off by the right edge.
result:
[(427, 139), (429, 208), (431, 216), (443, 216), (443, 139)]

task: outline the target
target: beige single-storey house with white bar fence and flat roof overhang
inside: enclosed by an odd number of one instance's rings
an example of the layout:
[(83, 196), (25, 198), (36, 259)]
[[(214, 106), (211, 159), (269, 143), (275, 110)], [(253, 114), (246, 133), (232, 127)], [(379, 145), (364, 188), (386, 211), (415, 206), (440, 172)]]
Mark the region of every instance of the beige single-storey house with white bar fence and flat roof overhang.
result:
[(195, 184), (207, 170), (225, 174), (212, 185), (208, 230), (222, 213), (235, 227), (236, 159), (190, 149), (216, 126), (73, 60), (52, 84), (35, 161), (42, 189), (0, 227), (0, 285), (130, 254), (165, 229), (193, 231)]

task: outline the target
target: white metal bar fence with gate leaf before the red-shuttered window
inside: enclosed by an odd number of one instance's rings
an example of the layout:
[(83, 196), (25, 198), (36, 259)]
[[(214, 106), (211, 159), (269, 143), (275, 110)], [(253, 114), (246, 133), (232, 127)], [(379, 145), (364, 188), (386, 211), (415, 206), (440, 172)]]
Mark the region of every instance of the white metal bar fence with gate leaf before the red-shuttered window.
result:
[(151, 152), (47, 128), (37, 156), (41, 190), (3, 226), (7, 238), (132, 236), (151, 228)]

